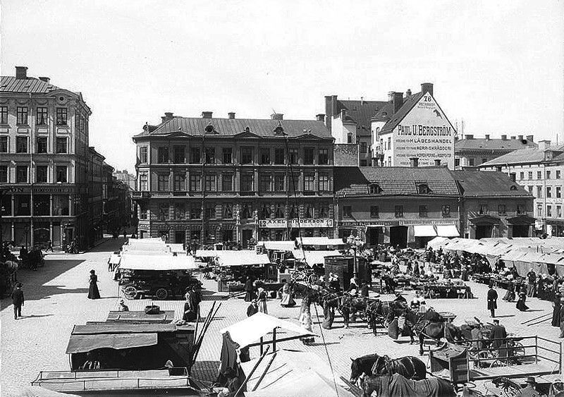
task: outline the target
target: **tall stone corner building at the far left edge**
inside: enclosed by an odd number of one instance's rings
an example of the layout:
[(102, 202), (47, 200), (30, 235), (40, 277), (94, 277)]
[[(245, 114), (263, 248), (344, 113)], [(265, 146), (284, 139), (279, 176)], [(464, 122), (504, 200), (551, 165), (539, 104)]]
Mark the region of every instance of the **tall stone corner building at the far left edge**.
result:
[(28, 77), (23, 66), (1, 77), (0, 92), (2, 239), (84, 246), (90, 108), (80, 92)]

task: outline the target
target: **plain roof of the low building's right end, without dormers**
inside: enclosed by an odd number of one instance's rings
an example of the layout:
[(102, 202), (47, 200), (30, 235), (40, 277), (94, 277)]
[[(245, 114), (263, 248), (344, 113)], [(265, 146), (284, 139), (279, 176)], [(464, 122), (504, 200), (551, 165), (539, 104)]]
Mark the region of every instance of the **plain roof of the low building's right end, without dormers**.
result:
[[(450, 171), (460, 184), (464, 197), (532, 195), (503, 172), (498, 171)], [(513, 187), (513, 188), (512, 188)]]

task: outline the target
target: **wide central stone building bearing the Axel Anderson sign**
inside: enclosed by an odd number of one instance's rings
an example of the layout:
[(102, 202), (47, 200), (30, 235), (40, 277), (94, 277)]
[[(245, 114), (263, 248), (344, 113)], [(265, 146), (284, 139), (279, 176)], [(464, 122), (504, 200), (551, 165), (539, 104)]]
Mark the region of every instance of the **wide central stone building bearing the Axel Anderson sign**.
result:
[(293, 238), (298, 226), (302, 236), (333, 236), (333, 138), (323, 121), (166, 113), (133, 140), (141, 238), (245, 246)]

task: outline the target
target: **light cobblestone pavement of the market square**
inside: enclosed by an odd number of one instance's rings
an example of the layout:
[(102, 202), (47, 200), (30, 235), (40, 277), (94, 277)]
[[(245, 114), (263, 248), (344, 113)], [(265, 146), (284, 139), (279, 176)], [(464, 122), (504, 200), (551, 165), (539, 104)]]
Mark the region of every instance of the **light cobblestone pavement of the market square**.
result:
[[(118, 288), (107, 271), (109, 253), (116, 250), (123, 239), (109, 240), (92, 252), (82, 255), (50, 255), (46, 267), (37, 272), (20, 272), (20, 281), (24, 283), (27, 302), (23, 307), (23, 319), (14, 321), (9, 299), (1, 303), (1, 386), (2, 396), (19, 396), (21, 389), (26, 388), (40, 370), (66, 370), (68, 358), (65, 354), (68, 337), (74, 324), (85, 324), (87, 321), (104, 321), (109, 310), (118, 306)], [(99, 274), (101, 300), (88, 300), (88, 271), (95, 269)], [(450, 311), (458, 315), (454, 323), (460, 325), (466, 318), (479, 317), (482, 321), (491, 321), (486, 311), (486, 290), (482, 284), (472, 283), (472, 292), (477, 298), (465, 299), (433, 299), (427, 305), (438, 311)], [(204, 281), (204, 301), (202, 317), (212, 305), (213, 300), (221, 302), (221, 308), (210, 325), (204, 343), (198, 355), (195, 374), (207, 380), (214, 379), (219, 364), (221, 351), (221, 334), (219, 330), (246, 317), (247, 303), (242, 298), (223, 299), (224, 294), (215, 293), (215, 283)], [(527, 300), (530, 310), (519, 312), (515, 303), (501, 300), (505, 291), (498, 290), (498, 318), (506, 326), (508, 332), (522, 336), (538, 335), (559, 341), (560, 330), (544, 322), (536, 326), (526, 326), (522, 322), (552, 311), (551, 303), (532, 298)], [(410, 300), (411, 293), (405, 297)], [(142, 310), (149, 300), (128, 301), (130, 310)], [(183, 310), (182, 301), (154, 301), (162, 310), (175, 310), (180, 317)], [(279, 305), (279, 300), (268, 302), (269, 314), (281, 319), (297, 323), (300, 300), (292, 308)], [(312, 307), (313, 310), (313, 307)], [(298, 341), (287, 341), (277, 344), (278, 348), (309, 351), (319, 356), (320, 361), (331, 361), (337, 377), (348, 379), (350, 375), (350, 358), (368, 353), (387, 354), (391, 357), (418, 355), (418, 346), (412, 346), (408, 338), (400, 343), (386, 335), (374, 336), (365, 324), (357, 322), (349, 329), (343, 327), (342, 318), (337, 314), (333, 329), (323, 329), (321, 309), (319, 316), (314, 315), (314, 331), (317, 334), (313, 346), (304, 346)], [(283, 331), (277, 336), (287, 336)], [(289, 336), (289, 335), (288, 335)], [(325, 345), (322, 343), (324, 338)], [(251, 357), (259, 354), (258, 348), (251, 349)], [(424, 357), (424, 361), (428, 358)]]

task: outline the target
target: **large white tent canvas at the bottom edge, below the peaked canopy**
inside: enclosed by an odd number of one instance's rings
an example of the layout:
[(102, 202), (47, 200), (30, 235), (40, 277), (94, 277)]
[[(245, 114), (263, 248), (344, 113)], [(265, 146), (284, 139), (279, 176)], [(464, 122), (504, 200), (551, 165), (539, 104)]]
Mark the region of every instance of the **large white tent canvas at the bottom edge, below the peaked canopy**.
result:
[[(258, 361), (259, 358), (242, 362), (243, 372), (248, 376)], [(338, 390), (335, 390), (335, 384)], [(336, 395), (355, 396), (318, 355), (293, 350), (277, 350), (267, 354), (248, 380), (245, 391), (245, 396), (252, 397)]]

